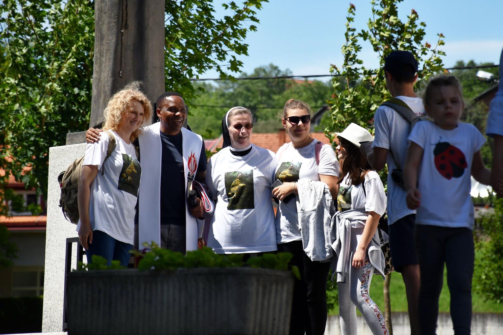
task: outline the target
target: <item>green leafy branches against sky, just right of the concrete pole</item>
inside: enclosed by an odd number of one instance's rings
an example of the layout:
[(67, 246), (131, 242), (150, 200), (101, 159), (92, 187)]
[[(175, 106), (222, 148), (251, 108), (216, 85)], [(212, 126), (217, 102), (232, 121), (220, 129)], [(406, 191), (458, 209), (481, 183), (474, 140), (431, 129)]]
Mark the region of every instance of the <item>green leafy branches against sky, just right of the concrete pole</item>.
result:
[(222, 4), (225, 14), (215, 18), (211, 0), (166, 0), (165, 74), (166, 89), (194, 96), (191, 78), (209, 69), (221, 78), (232, 78), (225, 70), (237, 73), (242, 67), (238, 55), (248, 55), (242, 43), (249, 31), (256, 31), (255, 16), (268, 0), (245, 0)]

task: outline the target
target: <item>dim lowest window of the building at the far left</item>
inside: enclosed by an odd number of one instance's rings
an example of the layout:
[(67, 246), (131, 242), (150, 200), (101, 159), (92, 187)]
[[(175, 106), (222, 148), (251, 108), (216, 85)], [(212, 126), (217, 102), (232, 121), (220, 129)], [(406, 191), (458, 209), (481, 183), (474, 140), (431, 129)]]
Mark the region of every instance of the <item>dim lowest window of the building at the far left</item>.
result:
[(44, 269), (14, 269), (12, 293), (18, 297), (43, 295)]

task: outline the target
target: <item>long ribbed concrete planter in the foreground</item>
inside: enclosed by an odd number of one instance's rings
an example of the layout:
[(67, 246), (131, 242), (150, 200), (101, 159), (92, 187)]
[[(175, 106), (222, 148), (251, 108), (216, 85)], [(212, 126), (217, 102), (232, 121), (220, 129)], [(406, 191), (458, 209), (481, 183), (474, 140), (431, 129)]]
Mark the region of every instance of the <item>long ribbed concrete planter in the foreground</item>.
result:
[(288, 334), (292, 291), (269, 269), (74, 271), (68, 334)]

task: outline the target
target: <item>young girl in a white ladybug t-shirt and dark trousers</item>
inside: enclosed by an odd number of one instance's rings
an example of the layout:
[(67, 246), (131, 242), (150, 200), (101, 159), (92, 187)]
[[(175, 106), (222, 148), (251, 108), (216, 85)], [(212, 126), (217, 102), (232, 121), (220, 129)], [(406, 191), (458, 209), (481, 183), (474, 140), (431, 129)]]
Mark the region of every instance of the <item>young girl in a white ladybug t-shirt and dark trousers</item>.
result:
[(465, 104), (455, 77), (432, 79), (423, 102), (433, 121), (412, 129), (404, 167), (407, 206), (417, 209), (420, 329), (423, 335), (435, 334), (445, 263), (454, 332), (469, 334), (474, 262), (470, 175), (490, 183), (491, 171), (480, 154), (485, 138), (473, 125), (459, 122)]

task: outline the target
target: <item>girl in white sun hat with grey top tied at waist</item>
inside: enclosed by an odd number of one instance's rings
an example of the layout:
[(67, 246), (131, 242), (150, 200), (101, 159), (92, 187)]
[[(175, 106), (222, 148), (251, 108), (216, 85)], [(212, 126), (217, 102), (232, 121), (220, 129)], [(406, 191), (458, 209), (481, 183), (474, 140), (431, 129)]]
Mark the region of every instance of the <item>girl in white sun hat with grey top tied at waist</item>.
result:
[[(384, 315), (369, 295), (374, 271), (384, 276), (384, 256), (377, 225), (386, 210), (386, 194), (379, 175), (360, 154), (359, 148), (361, 143), (371, 142), (374, 138), (365, 128), (354, 123), (336, 134), (339, 137), (337, 155), (341, 162), (341, 186), (337, 197), (338, 234), (332, 246), (338, 255), (341, 330), (343, 334), (356, 334), (356, 306), (373, 334), (388, 334)], [(348, 220), (350, 224), (346, 224)]]

